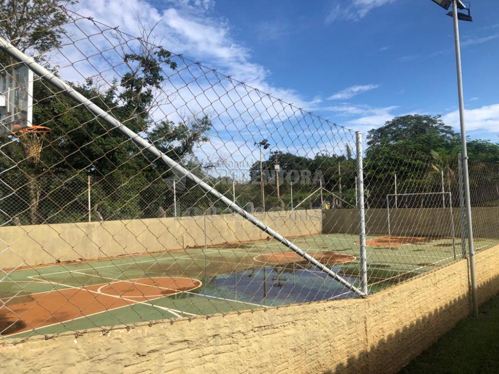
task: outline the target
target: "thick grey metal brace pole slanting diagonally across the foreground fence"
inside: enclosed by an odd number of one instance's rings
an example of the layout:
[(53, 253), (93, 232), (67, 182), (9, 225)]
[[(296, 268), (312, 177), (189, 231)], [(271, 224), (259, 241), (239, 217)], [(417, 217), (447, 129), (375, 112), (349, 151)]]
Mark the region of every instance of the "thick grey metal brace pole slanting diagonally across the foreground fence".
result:
[(343, 284), (345, 287), (348, 289), (352, 290), (356, 294), (360, 296), (366, 296), (366, 293), (362, 292), (358, 288), (356, 288), (354, 285), (350, 284), (346, 279), (343, 279), (340, 275), (335, 273), (333, 270), (329, 269), (327, 266), (322, 264), (321, 262), (317, 261), (315, 258), (310, 256), (308, 253), (305, 253), (301, 248), (287, 240), (284, 236), (279, 234), (278, 232), (274, 231), (270, 227), (268, 227), (266, 224), (258, 220), (256, 217), (251, 215), (249, 212), (247, 212), (245, 209), (243, 209), (241, 206), (237, 205), (231, 199), (227, 198), (225, 195), (217, 191), (215, 188), (211, 187), (207, 183), (203, 182), (200, 178), (196, 177), (194, 174), (192, 174), (190, 171), (185, 169), (183, 166), (181, 166), (179, 163), (175, 162), (172, 160), (170, 157), (165, 155), (163, 152), (161, 152), (159, 149), (157, 149), (154, 145), (146, 141), (145, 139), (141, 138), (138, 134), (134, 133), (132, 130), (130, 130), (128, 127), (123, 125), (120, 121), (118, 121), (116, 118), (111, 116), (109, 113), (105, 112), (102, 110), (99, 106), (95, 105), (92, 103), (89, 99), (81, 95), (79, 92), (77, 92), (75, 89), (73, 89), (71, 86), (69, 86), (64, 80), (56, 76), (55, 74), (51, 73), (47, 69), (45, 69), (43, 66), (38, 64), (32, 57), (29, 57), (19, 51), (17, 48), (12, 46), (7, 40), (5, 40), (3, 37), (0, 36), (0, 50), (4, 51), (14, 59), (16, 59), (19, 62), (22, 62), (26, 65), (27, 68), (31, 69), (36, 75), (39, 77), (43, 78), (44, 80), (50, 82), (54, 87), (60, 90), (61, 93), (67, 95), (71, 99), (75, 100), (77, 103), (82, 104), (85, 106), (93, 115), (96, 116), (96, 118), (106, 122), (108, 125), (111, 125), (114, 129), (118, 130), (121, 132), (123, 135), (126, 137), (130, 138), (137, 146), (140, 148), (144, 149), (145, 151), (151, 153), (153, 156), (157, 157), (159, 160), (164, 162), (166, 165), (168, 165), (172, 171), (176, 175), (180, 175), (182, 177), (186, 177), (196, 183), (199, 187), (201, 187), (205, 192), (212, 194), (214, 197), (216, 197), (218, 200), (224, 202), (227, 204), (227, 206), (233, 210), (234, 212), (238, 213), (241, 215), (243, 218), (247, 219), (250, 221), (253, 225), (258, 227), (260, 230), (263, 232), (269, 234), (272, 236), (275, 240), (281, 242), (284, 244), (286, 247), (291, 249), (293, 252), (296, 252), (296, 254), (300, 255), (304, 259), (306, 259), (309, 263), (315, 265), (317, 268), (322, 270), (324, 273), (329, 275), (330, 277), (336, 279), (339, 283)]

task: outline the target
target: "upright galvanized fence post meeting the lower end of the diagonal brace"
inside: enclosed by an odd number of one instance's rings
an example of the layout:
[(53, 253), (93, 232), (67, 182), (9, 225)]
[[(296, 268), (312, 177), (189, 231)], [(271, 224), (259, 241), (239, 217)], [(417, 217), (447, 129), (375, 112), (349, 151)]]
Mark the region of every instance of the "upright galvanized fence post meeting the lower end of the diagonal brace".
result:
[(362, 158), (362, 133), (357, 131), (357, 200), (359, 211), (359, 252), (360, 252), (360, 289), (367, 295), (367, 254), (366, 254), (366, 213), (364, 209), (364, 166)]

